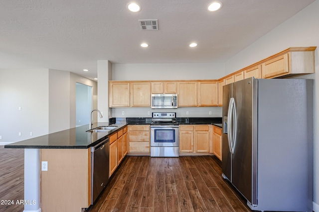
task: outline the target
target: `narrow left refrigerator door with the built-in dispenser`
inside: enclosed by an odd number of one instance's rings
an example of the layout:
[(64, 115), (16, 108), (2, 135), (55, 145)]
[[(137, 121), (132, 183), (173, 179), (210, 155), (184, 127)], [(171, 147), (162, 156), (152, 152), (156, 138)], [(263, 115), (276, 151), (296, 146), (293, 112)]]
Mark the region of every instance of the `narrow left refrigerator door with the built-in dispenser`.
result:
[(223, 135), (222, 135), (222, 170), (225, 177), (231, 181), (231, 152), (228, 144), (228, 106), (232, 97), (232, 84), (223, 86)]

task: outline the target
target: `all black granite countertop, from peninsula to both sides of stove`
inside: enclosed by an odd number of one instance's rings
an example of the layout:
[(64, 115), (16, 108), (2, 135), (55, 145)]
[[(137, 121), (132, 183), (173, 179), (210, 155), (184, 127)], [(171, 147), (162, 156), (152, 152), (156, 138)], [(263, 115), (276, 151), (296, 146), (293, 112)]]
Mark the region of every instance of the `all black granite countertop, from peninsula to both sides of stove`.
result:
[[(112, 133), (121, 130), (126, 125), (151, 124), (151, 118), (112, 118), (110, 123), (97, 122), (92, 128), (102, 126), (117, 126), (107, 132), (86, 132), (89, 125), (83, 125), (69, 130), (51, 133), (36, 138), (18, 141), (4, 145), (4, 148), (89, 148), (108, 138)], [(180, 125), (214, 125), (222, 128), (221, 118), (177, 118)]]

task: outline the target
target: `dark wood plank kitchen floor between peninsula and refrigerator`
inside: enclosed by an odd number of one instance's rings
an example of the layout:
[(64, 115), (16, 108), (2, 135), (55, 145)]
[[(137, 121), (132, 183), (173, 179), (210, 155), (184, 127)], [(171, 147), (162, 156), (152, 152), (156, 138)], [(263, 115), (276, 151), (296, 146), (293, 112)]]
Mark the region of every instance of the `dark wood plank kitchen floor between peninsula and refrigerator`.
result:
[(88, 212), (251, 212), (214, 156), (127, 156)]

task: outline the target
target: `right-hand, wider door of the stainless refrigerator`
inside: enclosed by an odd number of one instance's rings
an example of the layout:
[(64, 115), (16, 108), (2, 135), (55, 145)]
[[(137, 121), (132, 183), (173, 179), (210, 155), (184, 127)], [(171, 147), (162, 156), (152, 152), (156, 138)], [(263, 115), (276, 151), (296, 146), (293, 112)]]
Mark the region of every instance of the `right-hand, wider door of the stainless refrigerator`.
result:
[[(253, 113), (257, 91), (253, 92), (254, 79), (248, 78), (233, 83), (235, 103), (236, 131), (233, 137), (232, 184), (252, 204), (256, 204), (253, 195)], [(254, 94), (255, 98), (254, 99)], [(255, 188), (254, 188), (255, 189)]]

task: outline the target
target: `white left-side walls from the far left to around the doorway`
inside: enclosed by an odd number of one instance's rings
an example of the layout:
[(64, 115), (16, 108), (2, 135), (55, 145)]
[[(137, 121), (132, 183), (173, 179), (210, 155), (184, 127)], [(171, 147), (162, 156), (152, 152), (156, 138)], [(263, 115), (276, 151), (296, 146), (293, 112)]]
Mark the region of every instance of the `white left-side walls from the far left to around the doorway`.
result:
[(76, 82), (93, 87), (97, 107), (97, 82), (88, 78), (49, 69), (0, 70), (0, 142), (75, 127)]

